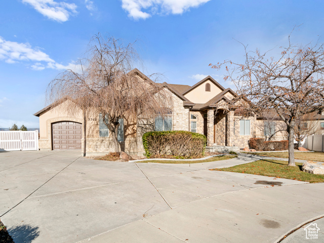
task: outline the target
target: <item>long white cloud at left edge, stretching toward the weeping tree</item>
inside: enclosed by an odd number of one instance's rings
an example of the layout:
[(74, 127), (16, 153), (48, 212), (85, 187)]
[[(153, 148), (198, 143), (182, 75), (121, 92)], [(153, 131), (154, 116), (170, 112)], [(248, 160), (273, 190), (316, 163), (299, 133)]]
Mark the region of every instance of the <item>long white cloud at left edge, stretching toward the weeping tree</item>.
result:
[(69, 63), (62, 65), (55, 62), (45, 52), (39, 48), (32, 48), (28, 43), (18, 43), (6, 41), (0, 36), (0, 60), (7, 63), (17, 62), (31, 62), (30, 67), (34, 70), (43, 70), (45, 68), (52, 68), (57, 70), (72, 69), (80, 72), (80, 65)]

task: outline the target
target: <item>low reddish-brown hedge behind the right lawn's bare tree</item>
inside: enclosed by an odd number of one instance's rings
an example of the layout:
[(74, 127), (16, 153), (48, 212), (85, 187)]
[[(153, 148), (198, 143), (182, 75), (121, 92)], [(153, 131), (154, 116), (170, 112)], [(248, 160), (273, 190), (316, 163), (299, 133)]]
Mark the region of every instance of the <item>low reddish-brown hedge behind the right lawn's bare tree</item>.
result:
[(280, 151), (288, 150), (288, 140), (264, 141), (264, 138), (250, 138), (249, 146), (259, 151)]

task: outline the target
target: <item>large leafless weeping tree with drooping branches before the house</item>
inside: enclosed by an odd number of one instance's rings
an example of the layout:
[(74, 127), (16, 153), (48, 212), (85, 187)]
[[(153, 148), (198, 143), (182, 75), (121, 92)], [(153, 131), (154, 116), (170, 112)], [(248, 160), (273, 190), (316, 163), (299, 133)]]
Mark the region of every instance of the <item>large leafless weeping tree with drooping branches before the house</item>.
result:
[(49, 84), (47, 100), (66, 99), (75, 106), (70, 112), (82, 109), (84, 115), (84, 155), (86, 153), (86, 115), (89, 111), (101, 113), (110, 132), (115, 152), (120, 151), (117, 140), (119, 119), (125, 116), (152, 118), (164, 115), (172, 107), (170, 93), (158, 83), (143, 75), (134, 65), (141, 64), (133, 44), (120, 39), (95, 35), (86, 57), (78, 60), (79, 71), (68, 69)]

